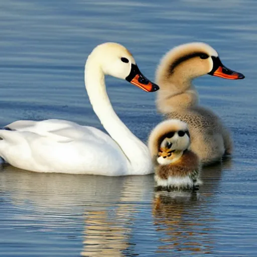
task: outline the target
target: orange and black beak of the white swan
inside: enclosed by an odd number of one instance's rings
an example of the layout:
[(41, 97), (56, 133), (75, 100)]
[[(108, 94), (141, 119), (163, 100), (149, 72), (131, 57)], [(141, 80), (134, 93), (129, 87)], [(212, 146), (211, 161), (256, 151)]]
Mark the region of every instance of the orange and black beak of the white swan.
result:
[(131, 82), (147, 92), (155, 92), (159, 89), (159, 86), (148, 80), (139, 70), (136, 64), (132, 64), (131, 73), (126, 77), (126, 80)]

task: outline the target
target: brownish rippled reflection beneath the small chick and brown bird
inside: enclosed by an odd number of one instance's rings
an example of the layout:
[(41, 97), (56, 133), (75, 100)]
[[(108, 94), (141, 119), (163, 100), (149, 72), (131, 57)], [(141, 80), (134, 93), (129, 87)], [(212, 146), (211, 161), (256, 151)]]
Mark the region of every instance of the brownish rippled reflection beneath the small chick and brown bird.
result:
[[(158, 253), (176, 252), (208, 254), (214, 247), (211, 226), (214, 214), (206, 208), (213, 201), (222, 169), (231, 166), (224, 161), (202, 171), (203, 185), (197, 192), (156, 192), (153, 198), (153, 216), (160, 237)], [(206, 193), (208, 192), (208, 193)], [(204, 197), (205, 196), (205, 197)]]

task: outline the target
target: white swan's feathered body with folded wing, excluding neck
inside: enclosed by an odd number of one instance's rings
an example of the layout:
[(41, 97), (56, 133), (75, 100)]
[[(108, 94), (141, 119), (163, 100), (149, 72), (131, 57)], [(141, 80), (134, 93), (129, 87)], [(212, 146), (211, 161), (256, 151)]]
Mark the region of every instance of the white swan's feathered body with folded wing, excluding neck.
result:
[(38, 172), (123, 175), (129, 161), (119, 146), (95, 127), (66, 120), (16, 121), (0, 130), (0, 156)]

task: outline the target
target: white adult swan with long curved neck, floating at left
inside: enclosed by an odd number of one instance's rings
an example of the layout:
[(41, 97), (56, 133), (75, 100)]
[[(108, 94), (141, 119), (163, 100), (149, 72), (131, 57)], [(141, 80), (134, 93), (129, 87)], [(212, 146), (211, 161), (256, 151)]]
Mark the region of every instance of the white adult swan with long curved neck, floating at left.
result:
[(145, 91), (159, 89), (142, 75), (125, 47), (101, 44), (87, 58), (85, 85), (94, 112), (110, 137), (95, 127), (67, 120), (19, 120), (0, 130), (0, 156), (17, 168), (34, 172), (105, 176), (153, 173), (147, 146), (111, 106), (105, 74), (126, 79)]

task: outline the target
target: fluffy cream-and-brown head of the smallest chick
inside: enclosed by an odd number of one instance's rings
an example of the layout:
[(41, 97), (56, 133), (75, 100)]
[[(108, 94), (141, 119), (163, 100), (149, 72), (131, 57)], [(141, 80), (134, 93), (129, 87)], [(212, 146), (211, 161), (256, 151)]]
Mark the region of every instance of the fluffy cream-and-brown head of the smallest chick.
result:
[(184, 151), (190, 145), (187, 123), (179, 119), (167, 119), (159, 123), (151, 132), (148, 147), (154, 157), (160, 151)]

